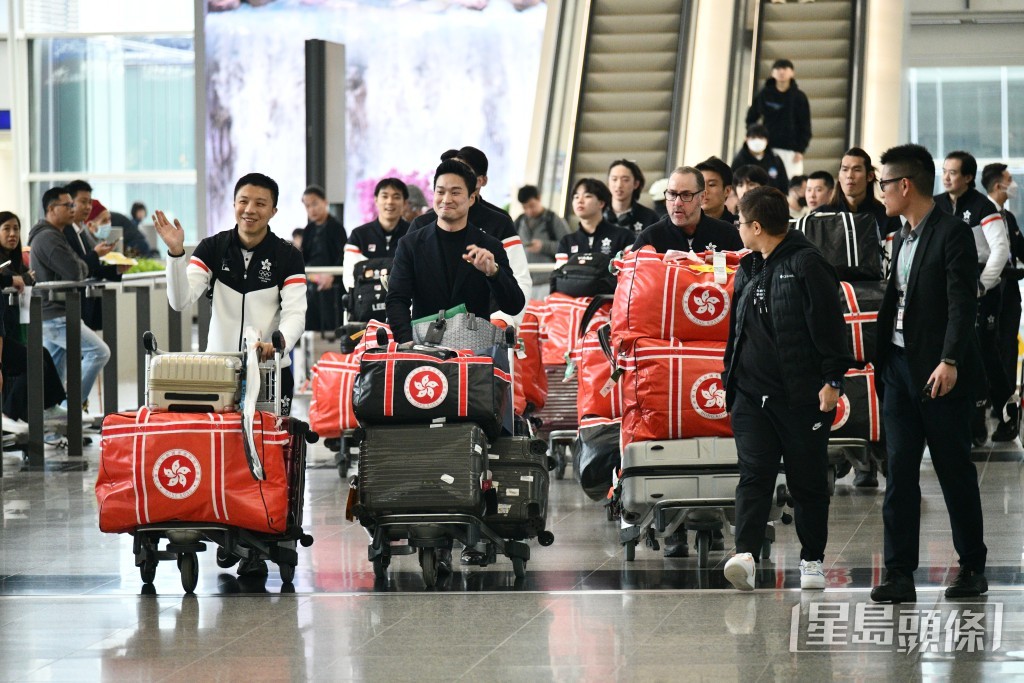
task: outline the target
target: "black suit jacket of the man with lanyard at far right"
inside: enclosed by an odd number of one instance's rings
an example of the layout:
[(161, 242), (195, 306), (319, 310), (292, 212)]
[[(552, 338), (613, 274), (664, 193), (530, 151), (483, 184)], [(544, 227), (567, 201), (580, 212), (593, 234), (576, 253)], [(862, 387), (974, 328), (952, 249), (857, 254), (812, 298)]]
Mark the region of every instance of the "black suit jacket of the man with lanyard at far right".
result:
[[(897, 269), (905, 237), (893, 243), (893, 268), (879, 310), (878, 361), (874, 381), (884, 390), (883, 369), (893, 349), (892, 335), (899, 300)], [(932, 210), (910, 264), (903, 340), (914, 384), (924, 389), (942, 358), (956, 360), (956, 384), (947, 396), (977, 395), (983, 377), (975, 318), (978, 310), (978, 250), (963, 221)]]

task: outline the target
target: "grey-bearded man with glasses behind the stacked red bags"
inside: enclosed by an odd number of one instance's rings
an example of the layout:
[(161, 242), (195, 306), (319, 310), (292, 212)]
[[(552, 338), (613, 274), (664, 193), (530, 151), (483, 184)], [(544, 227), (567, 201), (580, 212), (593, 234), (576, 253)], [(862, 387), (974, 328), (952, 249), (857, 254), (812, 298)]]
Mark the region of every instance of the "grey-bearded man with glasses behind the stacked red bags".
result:
[(705, 193), (703, 174), (692, 166), (677, 168), (669, 176), (665, 205), (669, 215), (648, 225), (637, 236), (633, 249), (651, 245), (664, 254), (669, 250), (702, 252), (743, 248), (739, 231), (731, 223), (715, 220), (700, 209)]

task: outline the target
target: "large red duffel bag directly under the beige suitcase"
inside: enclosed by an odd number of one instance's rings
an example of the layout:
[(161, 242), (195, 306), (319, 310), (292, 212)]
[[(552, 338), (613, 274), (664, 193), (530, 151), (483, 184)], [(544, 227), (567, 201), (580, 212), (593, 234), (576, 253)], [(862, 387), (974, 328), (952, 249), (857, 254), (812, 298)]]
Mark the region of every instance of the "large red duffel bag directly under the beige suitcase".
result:
[(256, 454), (265, 479), (253, 478), (239, 413), (116, 413), (100, 439), (101, 531), (158, 522), (207, 522), (283, 533), (288, 521), (287, 429), (257, 412)]

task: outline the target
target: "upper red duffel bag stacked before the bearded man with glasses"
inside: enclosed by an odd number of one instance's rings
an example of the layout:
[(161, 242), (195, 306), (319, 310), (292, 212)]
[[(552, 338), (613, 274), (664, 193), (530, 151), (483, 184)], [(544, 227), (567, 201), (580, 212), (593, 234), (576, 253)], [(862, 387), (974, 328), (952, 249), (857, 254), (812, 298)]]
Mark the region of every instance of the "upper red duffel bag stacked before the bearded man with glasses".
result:
[(726, 341), (736, 268), (716, 273), (702, 261), (667, 258), (650, 246), (624, 256), (612, 308), (615, 347), (641, 337)]

